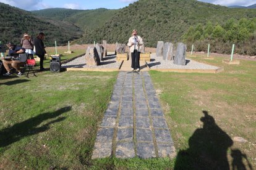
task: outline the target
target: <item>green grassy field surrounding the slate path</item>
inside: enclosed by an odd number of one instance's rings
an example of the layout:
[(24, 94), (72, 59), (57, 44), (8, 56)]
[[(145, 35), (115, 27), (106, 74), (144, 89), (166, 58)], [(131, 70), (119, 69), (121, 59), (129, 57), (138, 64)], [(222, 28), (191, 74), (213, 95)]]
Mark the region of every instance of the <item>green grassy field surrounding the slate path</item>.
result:
[[(54, 54), (54, 48), (48, 53)], [(255, 169), (256, 62), (225, 65), (218, 57), (193, 59), (224, 71), (150, 71), (176, 147), (173, 160), (91, 159), (117, 72), (0, 77), (0, 169)], [(237, 137), (247, 142), (237, 142)]]

